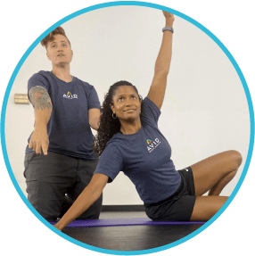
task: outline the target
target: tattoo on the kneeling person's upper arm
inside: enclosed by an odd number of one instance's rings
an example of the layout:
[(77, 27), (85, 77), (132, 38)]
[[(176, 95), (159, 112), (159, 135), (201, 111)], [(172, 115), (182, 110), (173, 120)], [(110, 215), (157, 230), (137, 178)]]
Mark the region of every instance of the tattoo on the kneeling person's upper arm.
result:
[(44, 87), (31, 87), (29, 89), (29, 99), (33, 104), (35, 111), (43, 111), (45, 108), (53, 109), (50, 95)]

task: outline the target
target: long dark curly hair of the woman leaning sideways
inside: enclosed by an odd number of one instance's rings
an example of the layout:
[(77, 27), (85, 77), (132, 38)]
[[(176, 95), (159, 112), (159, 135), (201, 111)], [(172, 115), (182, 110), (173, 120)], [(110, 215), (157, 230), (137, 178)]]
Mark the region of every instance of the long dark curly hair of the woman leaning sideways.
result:
[(118, 118), (112, 118), (110, 105), (113, 104), (112, 96), (115, 95), (117, 88), (123, 86), (133, 87), (139, 96), (140, 102), (143, 101), (142, 97), (138, 94), (136, 87), (127, 81), (119, 81), (109, 88), (108, 93), (104, 96), (103, 105), (101, 107), (100, 126), (97, 129), (97, 135), (95, 136), (93, 145), (93, 150), (98, 153), (99, 156), (103, 153), (103, 150), (105, 149), (106, 144), (111, 139), (111, 137), (119, 132), (120, 122)]

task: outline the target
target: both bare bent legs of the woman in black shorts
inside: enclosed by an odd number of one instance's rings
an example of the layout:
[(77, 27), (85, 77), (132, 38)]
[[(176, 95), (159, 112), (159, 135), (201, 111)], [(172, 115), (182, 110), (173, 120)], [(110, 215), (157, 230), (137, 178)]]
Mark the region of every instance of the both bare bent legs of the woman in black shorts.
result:
[[(234, 178), (241, 163), (240, 153), (226, 151), (191, 166), (196, 195), (191, 220), (208, 220), (216, 214), (228, 198), (219, 194)], [(202, 196), (206, 192), (208, 196)]]

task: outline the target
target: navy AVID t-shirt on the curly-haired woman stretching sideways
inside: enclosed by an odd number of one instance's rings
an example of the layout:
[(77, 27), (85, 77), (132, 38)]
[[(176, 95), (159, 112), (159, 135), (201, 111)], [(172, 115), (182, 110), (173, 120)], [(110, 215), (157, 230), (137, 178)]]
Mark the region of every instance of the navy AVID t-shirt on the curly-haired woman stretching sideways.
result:
[(160, 202), (177, 191), (180, 174), (171, 160), (171, 147), (160, 133), (159, 108), (149, 98), (142, 103), (142, 127), (132, 135), (117, 133), (107, 143), (95, 173), (111, 182), (123, 171), (144, 203)]

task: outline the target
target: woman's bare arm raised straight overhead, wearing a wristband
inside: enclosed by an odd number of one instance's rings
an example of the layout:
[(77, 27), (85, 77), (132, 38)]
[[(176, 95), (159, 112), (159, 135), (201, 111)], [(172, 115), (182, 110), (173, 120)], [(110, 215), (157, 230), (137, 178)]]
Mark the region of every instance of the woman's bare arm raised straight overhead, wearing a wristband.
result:
[[(173, 28), (174, 15), (169, 12), (164, 12), (166, 18), (166, 27)], [(160, 53), (155, 63), (154, 77), (152, 86), (147, 97), (155, 103), (160, 109), (164, 100), (167, 87), (167, 78), (169, 75), (169, 67), (172, 55), (172, 37), (173, 33), (169, 30), (163, 32)]]

